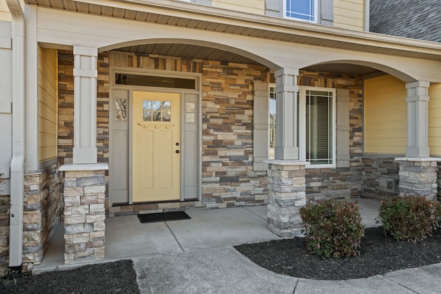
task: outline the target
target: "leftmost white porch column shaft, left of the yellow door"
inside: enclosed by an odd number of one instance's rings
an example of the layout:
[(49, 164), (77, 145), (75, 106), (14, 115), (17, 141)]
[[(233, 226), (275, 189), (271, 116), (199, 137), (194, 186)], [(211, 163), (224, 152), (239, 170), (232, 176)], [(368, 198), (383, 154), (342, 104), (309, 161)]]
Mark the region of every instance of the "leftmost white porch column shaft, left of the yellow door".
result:
[(97, 48), (74, 46), (73, 163), (96, 163)]

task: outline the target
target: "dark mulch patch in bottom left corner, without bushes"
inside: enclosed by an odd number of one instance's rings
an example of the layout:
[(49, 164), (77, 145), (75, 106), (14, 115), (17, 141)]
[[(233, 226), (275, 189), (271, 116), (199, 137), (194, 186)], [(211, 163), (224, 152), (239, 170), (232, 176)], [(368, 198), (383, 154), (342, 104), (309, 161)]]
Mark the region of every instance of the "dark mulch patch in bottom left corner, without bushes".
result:
[(0, 280), (0, 293), (140, 293), (132, 260)]

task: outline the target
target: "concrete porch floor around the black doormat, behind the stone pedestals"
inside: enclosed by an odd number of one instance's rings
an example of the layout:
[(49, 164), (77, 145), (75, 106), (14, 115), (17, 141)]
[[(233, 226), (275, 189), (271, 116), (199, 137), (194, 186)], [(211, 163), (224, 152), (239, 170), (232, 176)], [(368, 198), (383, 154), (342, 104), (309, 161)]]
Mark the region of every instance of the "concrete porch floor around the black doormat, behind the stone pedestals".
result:
[[(363, 224), (376, 227), (380, 202), (365, 198), (356, 200), (360, 204)], [(186, 212), (191, 220), (142, 224), (136, 215), (106, 218), (103, 262), (280, 239), (267, 229), (266, 205)], [(60, 222), (41, 264), (34, 266), (34, 274), (79, 266), (64, 264), (63, 233), (63, 222)]]

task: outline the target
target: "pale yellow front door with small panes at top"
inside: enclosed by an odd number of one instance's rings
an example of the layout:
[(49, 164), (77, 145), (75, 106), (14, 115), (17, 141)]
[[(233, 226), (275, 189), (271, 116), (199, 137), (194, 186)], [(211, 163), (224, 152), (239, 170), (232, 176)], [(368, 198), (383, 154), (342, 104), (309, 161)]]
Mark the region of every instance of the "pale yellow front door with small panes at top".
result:
[(132, 129), (133, 202), (179, 200), (181, 94), (133, 92)]

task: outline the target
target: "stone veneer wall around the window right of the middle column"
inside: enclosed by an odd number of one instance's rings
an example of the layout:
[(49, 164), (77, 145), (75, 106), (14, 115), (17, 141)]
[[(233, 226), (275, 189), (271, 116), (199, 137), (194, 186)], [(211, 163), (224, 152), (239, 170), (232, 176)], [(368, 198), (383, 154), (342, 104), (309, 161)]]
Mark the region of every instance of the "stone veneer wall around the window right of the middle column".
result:
[(350, 167), (306, 169), (307, 199), (323, 200), (360, 196), (362, 193), (362, 76), (300, 70), (298, 85), (349, 89), (351, 96), (349, 102)]

